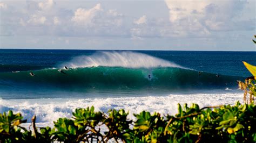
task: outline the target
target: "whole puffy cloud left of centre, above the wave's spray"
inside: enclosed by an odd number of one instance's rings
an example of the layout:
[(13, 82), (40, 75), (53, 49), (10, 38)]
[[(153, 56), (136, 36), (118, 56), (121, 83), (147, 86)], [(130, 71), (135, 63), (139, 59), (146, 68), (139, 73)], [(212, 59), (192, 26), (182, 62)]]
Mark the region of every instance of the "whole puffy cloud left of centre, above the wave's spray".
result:
[(76, 9), (70, 20), (72, 31), (66, 33), (79, 36), (124, 36), (129, 33), (128, 24), (124, 23), (124, 19), (122, 13), (115, 9), (102, 9), (98, 3), (90, 9)]

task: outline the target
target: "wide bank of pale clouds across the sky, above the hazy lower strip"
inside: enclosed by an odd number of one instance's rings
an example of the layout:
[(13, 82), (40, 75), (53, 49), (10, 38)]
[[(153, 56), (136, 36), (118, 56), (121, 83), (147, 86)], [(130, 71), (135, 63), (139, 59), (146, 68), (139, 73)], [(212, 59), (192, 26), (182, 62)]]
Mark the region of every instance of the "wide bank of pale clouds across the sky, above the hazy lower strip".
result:
[(142, 42), (147, 38), (239, 38), (242, 35), (235, 31), (255, 30), (253, 1), (165, 0), (160, 12), (168, 17), (157, 14), (159, 8), (152, 9), (156, 13), (152, 16), (146, 5), (140, 5), (145, 9), (141, 14), (140, 9), (129, 13), (104, 1), (84, 2), (83, 6), (80, 1), (72, 5), (71, 1), (22, 2), (21, 8), (15, 2), (0, 3), (1, 36), (116, 37)]

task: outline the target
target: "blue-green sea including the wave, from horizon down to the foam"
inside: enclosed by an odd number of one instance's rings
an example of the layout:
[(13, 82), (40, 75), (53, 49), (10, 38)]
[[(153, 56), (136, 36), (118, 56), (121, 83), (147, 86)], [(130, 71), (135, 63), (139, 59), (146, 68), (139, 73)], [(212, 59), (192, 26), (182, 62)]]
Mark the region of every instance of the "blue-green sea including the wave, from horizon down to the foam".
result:
[[(96, 65), (79, 67), (86, 61)], [(88, 96), (237, 89), (237, 80), (251, 76), (242, 61), (256, 65), (256, 52), (0, 49), (0, 94), (2, 98), (51, 98), (64, 96), (56, 94), (61, 92)], [(72, 69), (59, 72), (63, 64)], [(106, 66), (115, 64), (119, 65)], [(30, 76), (31, 71), (35, 76)]]

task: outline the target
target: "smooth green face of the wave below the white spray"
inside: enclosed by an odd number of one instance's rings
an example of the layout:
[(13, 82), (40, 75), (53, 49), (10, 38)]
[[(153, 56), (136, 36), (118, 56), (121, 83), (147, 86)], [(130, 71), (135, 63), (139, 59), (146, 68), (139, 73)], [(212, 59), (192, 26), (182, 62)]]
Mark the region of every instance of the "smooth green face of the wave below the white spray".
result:
[[(195, 70), (163, 68), (87, 67), (64, 70), (42, 69), (18, 73), (0, 73), (0, 89), (80, 88), (80, 89), (184, 89), (235, 87), (244, 77), (199, 73)], [(150, 77), (149, 77), (150, 75)]]

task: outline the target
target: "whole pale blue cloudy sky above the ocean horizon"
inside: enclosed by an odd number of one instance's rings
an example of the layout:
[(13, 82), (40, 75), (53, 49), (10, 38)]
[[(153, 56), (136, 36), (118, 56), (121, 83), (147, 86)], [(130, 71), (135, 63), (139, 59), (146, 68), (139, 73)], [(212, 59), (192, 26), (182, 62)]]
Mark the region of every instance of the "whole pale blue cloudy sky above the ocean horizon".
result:
[(255, 4), (0, 0), (0, 48), (256, 51)]

